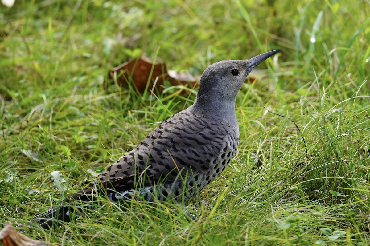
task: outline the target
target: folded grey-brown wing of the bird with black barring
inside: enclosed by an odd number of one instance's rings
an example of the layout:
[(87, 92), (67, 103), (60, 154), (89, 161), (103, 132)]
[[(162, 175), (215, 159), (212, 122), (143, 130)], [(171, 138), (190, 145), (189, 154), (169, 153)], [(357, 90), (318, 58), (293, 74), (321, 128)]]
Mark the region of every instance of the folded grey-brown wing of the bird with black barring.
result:
[(209, 163), (225, 148), (232, 135), (228, 125), (206, 122), (184, 110), (155, 128), (138, 146), (102, 172), (90, 187), (129, 190), (140, 180), (151, 186), (173, 182), (185, 175), (209, 169)]

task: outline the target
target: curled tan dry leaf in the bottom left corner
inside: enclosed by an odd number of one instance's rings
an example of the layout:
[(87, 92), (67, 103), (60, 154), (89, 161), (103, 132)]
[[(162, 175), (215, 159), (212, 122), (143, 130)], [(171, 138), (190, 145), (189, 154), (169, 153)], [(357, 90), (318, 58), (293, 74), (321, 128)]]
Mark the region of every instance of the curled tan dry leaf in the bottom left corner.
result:
[(10, 222), (0, 231), (0, 243), (5, 246), (46, 246), (41, 241), (33, 240), (17, 232)]

